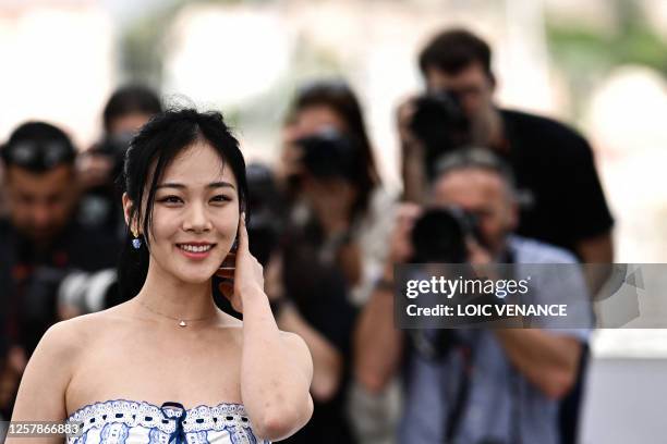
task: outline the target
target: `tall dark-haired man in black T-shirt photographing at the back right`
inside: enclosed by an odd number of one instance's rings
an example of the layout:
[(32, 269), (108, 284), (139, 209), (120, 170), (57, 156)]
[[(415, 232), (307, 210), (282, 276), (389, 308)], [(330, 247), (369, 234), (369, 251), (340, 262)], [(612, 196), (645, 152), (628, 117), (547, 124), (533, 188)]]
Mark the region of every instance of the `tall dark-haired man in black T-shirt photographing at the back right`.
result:
[(553, 120), (498, 108), (490, 48), (468, 30), (436, 35), (419, 64), (427, 92), (398, 112), (405, 198), (424, 201), (438, 156), (489, 147), (517, 178), (517, 233), (567, 248), (582, 262), (610, 262), (613, 219), (589, 143)]

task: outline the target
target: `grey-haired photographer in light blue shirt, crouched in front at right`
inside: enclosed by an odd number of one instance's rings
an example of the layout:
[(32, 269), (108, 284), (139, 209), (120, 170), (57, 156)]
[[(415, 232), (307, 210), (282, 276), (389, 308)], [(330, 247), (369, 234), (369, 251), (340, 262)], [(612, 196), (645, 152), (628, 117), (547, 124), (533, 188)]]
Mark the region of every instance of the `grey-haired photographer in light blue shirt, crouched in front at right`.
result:
[[(474, 231), (460, 238), (470, 263), (575, 263), (567, 251), (512, 234), (518, 223), (512, 178), (489, 151), (464, 149), (441, 159), (432, 206), (456, 206), (473, 219)], [(355, 332), (355, 377), (380, 391), (402, 368), (405, 383), (400, 442), (405, 443), (558, 443), (558, 399), (575, 381), (589, 330), (434, 330), (425, 353), (393, 324), (393, 264), (423, 258), (415, 239), (426, 215), (404, 206), (391, 240), (391, 258)], [(473, 235), (472, 233), (476, 233)], [(446, 233), (444, 234), (446, 235)], [(440, 243), (440, 235), (433, 244)], [(462, 235), (463, 236), (463, 235)], [(451, 251), (441, 251), (442, 257)], [(577, 278), (577, 276), (575, 276)], [(582, 276), (535, 288), (542, 301), (585, 295)], [(446, 341), (438, 337), (446, 332)], [(435, 337), (434, 337), (435, 336)]]

